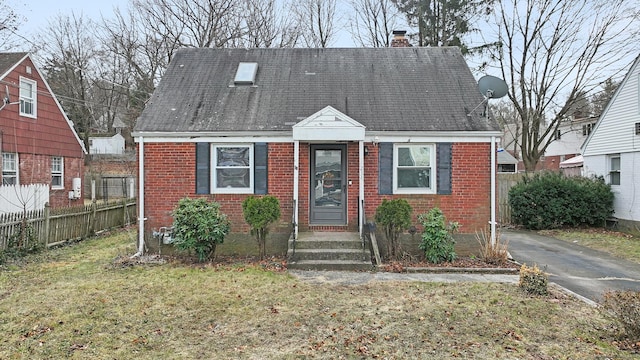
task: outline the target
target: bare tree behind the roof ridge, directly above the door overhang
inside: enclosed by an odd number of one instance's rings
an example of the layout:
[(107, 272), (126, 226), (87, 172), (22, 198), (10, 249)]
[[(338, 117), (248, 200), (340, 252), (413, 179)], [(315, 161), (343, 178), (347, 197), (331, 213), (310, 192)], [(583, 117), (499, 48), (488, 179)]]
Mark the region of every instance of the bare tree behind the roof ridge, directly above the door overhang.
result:
[(326, 48), (331, 45), (338, 30), (336, 0), (300, 0), (293, 11), (305, 46)]

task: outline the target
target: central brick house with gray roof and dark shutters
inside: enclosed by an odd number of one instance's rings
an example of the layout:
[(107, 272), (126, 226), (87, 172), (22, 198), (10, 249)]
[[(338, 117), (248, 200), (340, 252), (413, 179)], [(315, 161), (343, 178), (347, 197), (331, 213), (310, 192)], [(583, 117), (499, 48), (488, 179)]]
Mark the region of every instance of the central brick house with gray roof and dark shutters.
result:
[(179, 50), (133, 131), (140, 242), (183, 197), (246, 234), (241, 202), (260, 194), (280, 200), (285, 239), (362, 235), (391, 198), (474, 234), (495, 221), (501, 132), (484, 101), (454, 47)]

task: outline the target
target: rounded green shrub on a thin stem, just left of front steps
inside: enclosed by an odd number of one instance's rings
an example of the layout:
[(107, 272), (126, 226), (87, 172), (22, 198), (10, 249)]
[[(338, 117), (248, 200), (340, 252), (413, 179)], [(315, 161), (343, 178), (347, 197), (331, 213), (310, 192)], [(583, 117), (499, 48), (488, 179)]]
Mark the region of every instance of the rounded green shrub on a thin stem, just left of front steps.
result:
[(271, 195), (263, 197), (249, 196), (242, 202), (244, 220), (251, 227), (260, 251), (260, 259), (266, 255), (266, 241), (269, 225), (280, 219), (280, 202)]

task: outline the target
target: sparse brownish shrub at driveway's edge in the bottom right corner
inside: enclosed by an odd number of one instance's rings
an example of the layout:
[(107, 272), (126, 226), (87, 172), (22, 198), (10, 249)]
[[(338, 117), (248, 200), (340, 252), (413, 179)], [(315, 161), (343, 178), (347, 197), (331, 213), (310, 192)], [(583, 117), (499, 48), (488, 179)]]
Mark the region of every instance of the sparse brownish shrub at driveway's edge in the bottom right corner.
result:
[(602, 296), (600, 310), (620, 324), (632, 342), (640, 341), (640, 291), (609, 291)]

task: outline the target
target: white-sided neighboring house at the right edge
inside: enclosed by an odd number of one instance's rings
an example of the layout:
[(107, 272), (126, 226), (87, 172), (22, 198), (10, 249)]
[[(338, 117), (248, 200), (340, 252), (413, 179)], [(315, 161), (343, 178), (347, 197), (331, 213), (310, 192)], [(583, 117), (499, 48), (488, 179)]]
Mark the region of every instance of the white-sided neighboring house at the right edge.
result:
[(614, 216), (640, 231), (640, 56), (620, 83), (582, 146), (586, 176), (611, 184)]

